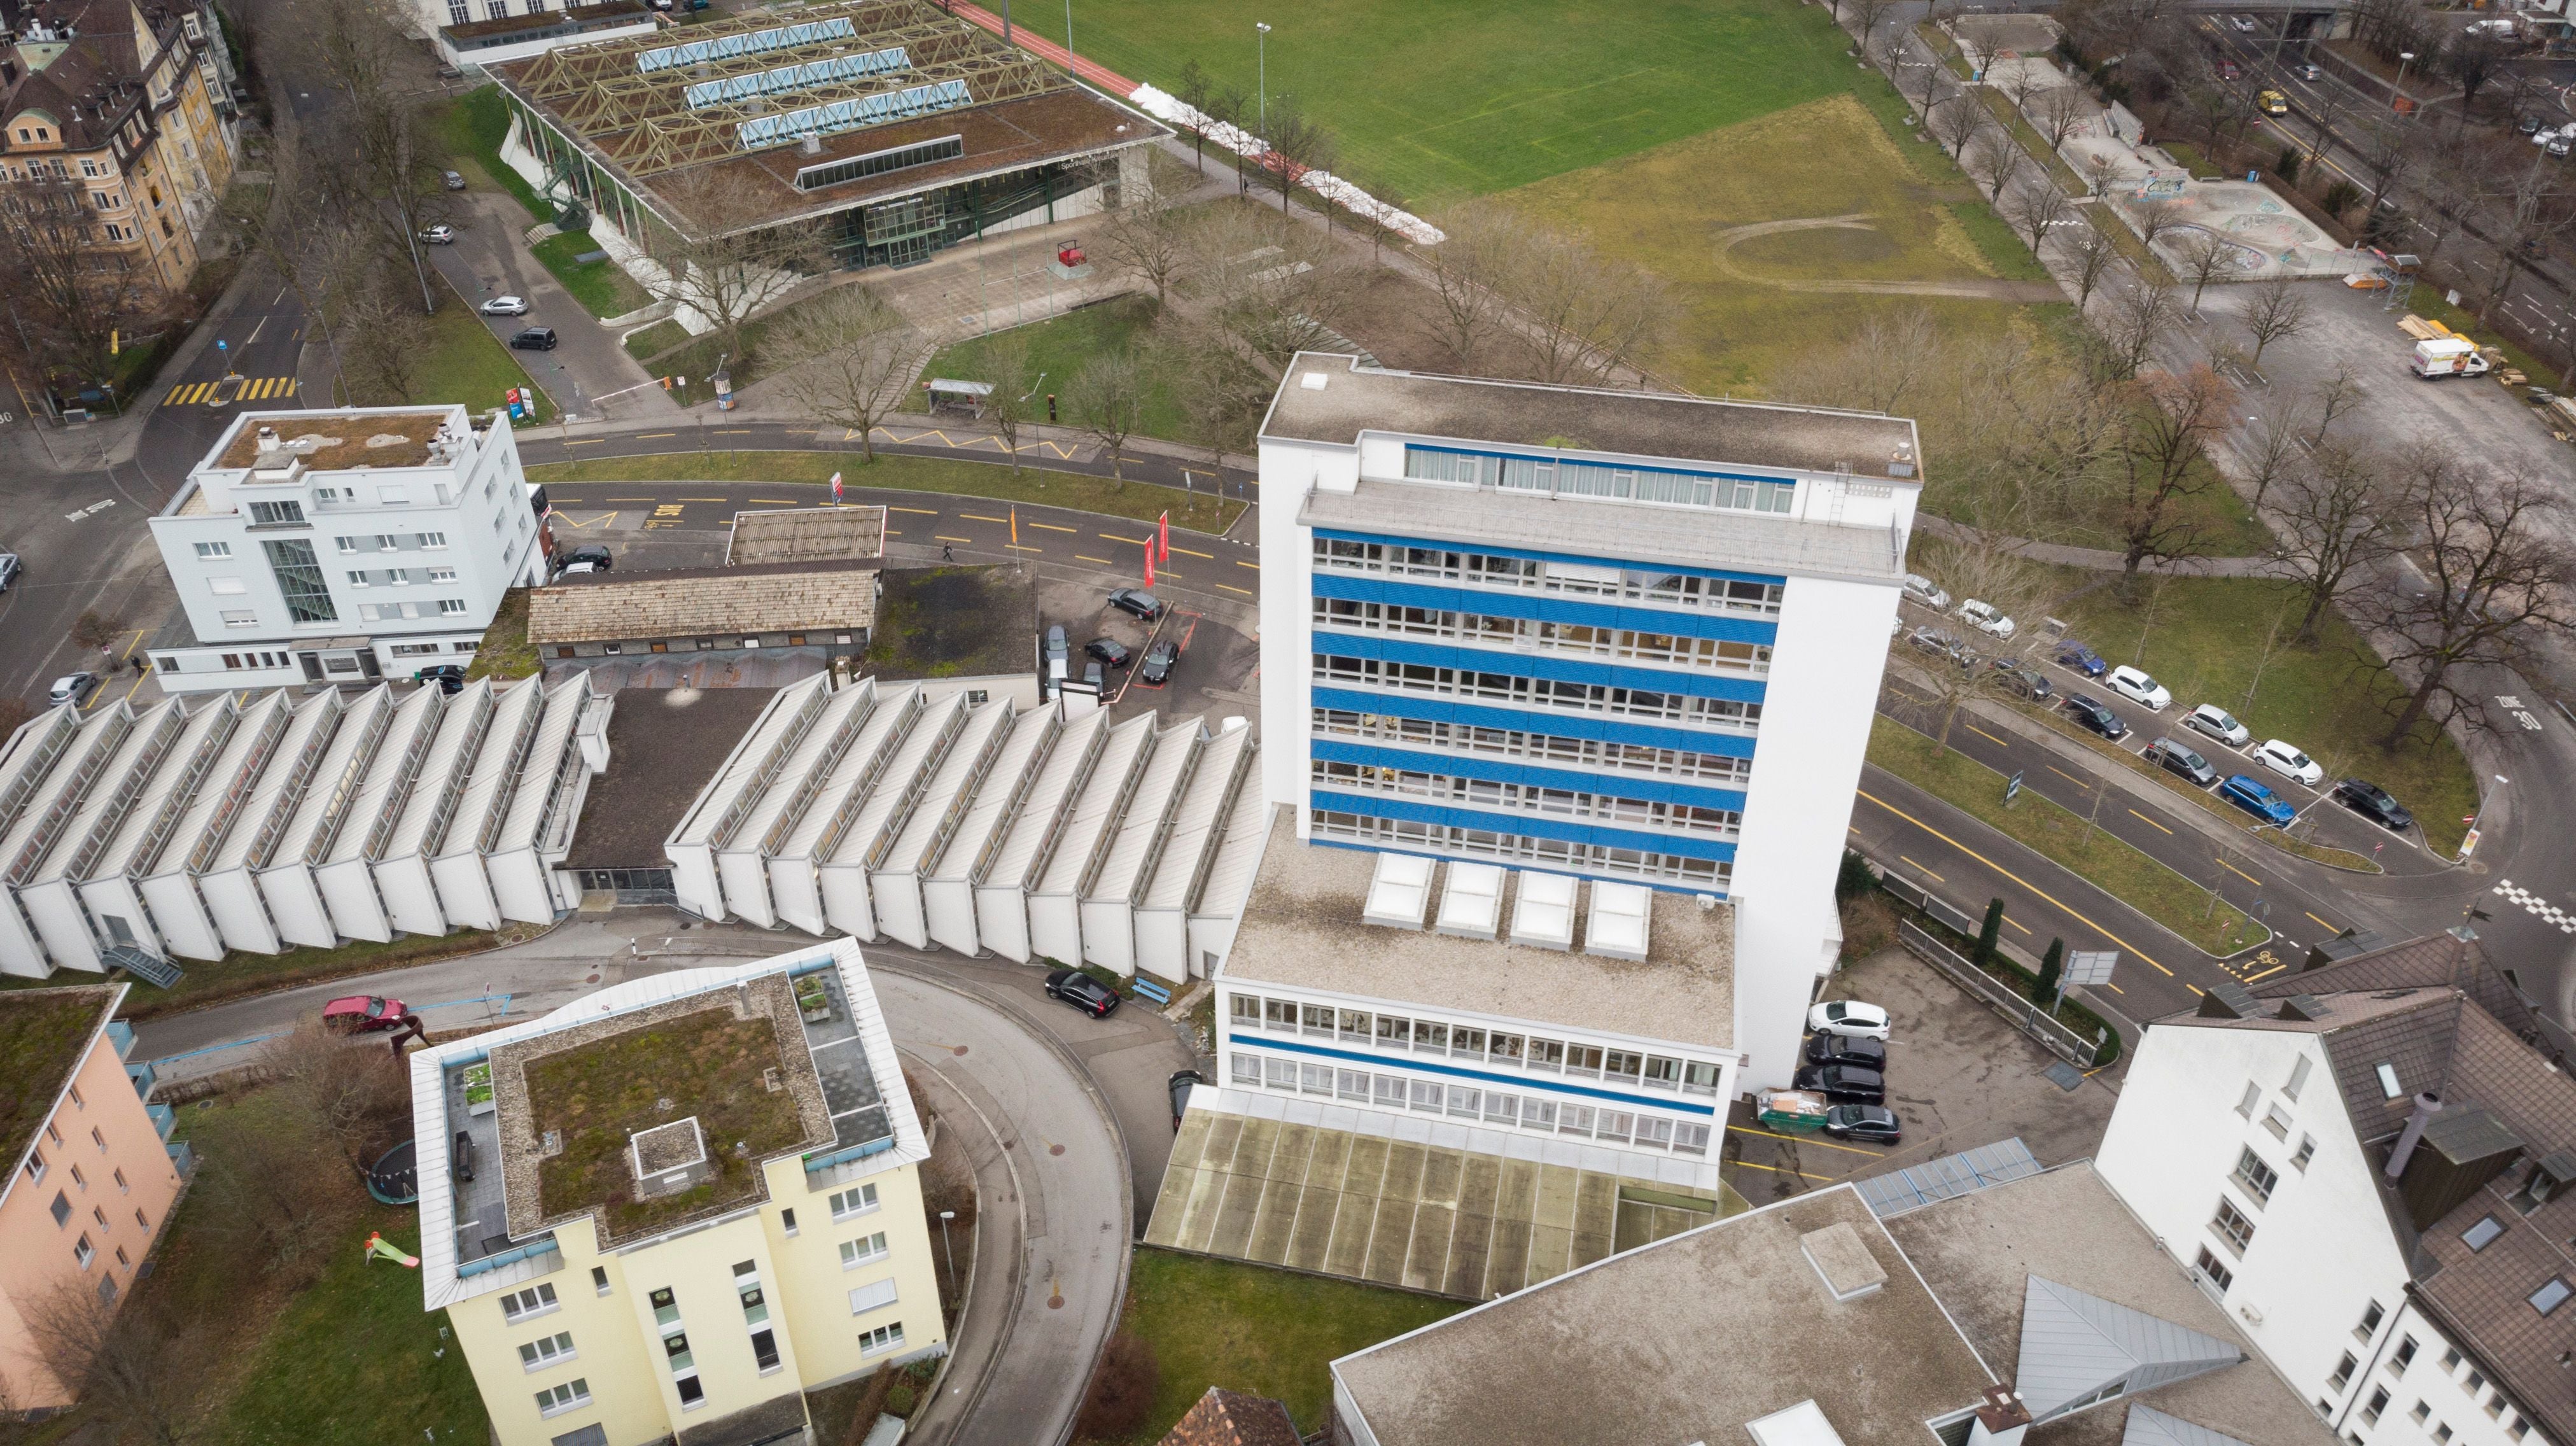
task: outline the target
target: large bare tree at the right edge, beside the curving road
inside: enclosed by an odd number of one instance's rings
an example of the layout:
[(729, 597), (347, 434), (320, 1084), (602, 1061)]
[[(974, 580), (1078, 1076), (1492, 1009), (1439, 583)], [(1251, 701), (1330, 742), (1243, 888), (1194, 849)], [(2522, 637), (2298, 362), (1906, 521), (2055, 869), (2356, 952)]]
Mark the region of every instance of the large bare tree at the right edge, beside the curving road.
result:
[(2419, 459), (2409, 492), (2409, 554), (2432, 583), (2424, 593), (2378, 593), (2372, 631), (2406, 683), (2380, 747), (2396, 753), (2416, 722), (2486, 722), (2463, 670), (2509, 665), (2519, 639), (2566, 637), (2568, 559), (2555, 541), (2555, 490), (2522, 474), (2468, 477), (2442, 456)]

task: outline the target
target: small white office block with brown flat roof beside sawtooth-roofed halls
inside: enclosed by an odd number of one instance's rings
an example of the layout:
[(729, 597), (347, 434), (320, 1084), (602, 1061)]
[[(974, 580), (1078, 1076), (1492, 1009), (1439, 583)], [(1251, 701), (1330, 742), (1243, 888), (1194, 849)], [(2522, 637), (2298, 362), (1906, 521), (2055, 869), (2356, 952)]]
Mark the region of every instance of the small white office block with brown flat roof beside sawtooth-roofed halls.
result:
[(368, 683), (466, 662), (544, 583), (544, 495), (502, 412), (242, 412), (152, 518), (180, 616), (165, 693)]

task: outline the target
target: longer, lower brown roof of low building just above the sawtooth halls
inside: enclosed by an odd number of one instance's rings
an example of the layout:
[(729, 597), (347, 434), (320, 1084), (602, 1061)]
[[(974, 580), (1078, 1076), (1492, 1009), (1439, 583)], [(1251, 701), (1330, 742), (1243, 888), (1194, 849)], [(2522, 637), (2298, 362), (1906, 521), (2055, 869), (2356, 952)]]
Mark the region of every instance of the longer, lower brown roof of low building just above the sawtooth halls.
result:
[(616, 642), (876, 626), (873, 562), (675, 567), (574, 577), (528, 595), (528, 642)]

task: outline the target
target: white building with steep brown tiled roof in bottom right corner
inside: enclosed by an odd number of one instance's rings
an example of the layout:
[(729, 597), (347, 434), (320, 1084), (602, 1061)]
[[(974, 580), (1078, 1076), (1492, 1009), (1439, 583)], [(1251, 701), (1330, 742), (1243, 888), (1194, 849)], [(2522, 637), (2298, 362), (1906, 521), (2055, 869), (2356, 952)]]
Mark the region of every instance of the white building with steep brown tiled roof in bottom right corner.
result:
[(2331, 1436), (2576, 1441), (2576, 1083), (2476, 938), (2151, 1023), (2097, 1165)]

